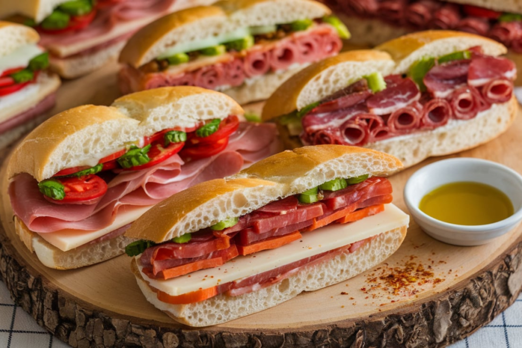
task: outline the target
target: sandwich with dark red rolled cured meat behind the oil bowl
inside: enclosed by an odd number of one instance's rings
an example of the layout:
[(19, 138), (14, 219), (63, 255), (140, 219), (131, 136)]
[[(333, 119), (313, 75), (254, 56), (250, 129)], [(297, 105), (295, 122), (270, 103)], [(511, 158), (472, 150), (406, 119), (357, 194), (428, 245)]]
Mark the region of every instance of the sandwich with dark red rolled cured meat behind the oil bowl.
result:
[(287, 143), (387, 152), (406, 167), (478, 146), (513, 122), (515, 64), (479, 35), (425, 31), (342, 53), (285, 82), (267, 100)]

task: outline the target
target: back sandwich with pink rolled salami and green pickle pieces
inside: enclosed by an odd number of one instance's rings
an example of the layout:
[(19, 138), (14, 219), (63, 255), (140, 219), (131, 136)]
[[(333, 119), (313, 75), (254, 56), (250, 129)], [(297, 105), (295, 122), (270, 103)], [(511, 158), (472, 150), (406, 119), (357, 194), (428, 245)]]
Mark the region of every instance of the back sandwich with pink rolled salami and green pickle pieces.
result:
[(306, 65), (337, 54), (346, 27), (313, 0), (229, 0), (164, 16), (120, 54), (124, 93), (160, 86), (264, 100)]

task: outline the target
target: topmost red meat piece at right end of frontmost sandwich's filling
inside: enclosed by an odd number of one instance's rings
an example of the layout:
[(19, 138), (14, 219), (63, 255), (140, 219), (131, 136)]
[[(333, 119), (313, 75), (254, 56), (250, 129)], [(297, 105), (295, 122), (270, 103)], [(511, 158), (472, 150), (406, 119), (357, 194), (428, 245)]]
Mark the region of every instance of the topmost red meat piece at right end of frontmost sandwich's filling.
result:
[(389, 195), (392, 191), (392, 184), (388, 179), (373, 176), (342, 190), (323, 191), (324, 198), (321, 202), (325, 203), (329, 210), (338, 210), (357, 201), (364, 201), (375, 196)]

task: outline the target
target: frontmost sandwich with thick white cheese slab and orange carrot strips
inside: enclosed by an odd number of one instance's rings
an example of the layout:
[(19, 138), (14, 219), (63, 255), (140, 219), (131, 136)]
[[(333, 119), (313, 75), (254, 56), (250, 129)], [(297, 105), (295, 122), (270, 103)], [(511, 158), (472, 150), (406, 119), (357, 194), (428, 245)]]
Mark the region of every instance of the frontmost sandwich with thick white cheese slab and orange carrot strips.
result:
[(391, 155), (321, 145), (193, 186), (133, 223), (126, 252), (147, 300), (209, 326), (335, 284), (392, 255), (409, 215), (383, 177)]

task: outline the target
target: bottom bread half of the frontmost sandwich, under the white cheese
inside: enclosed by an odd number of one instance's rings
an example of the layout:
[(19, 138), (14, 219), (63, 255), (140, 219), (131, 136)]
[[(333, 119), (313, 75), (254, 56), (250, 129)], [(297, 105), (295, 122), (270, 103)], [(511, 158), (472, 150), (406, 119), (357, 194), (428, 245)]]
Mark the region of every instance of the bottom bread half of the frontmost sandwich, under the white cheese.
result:
[(138, 270), (136, 259), (131, 269), (147, 301), (175, 321), (201, 327), (233, 320), (278, 305), (304, 291), (315, 291), (355, 277), (375, 267), (395, 253), (406, 236), (407, 226), (379, 234), (353, 253), (342, 253), (334, 259), (304, 267), (281, 282), (239, 296), (220, 294), (205, 301), (173, 305), (159, 301)]

